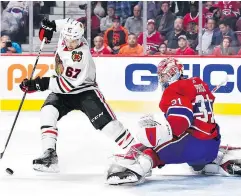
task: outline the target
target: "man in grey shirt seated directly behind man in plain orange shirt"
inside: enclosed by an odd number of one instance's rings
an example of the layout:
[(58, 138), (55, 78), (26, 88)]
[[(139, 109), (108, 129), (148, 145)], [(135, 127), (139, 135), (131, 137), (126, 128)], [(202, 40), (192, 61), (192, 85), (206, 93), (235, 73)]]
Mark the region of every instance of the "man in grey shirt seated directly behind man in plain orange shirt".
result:
[(129, 33), (134, 33), (136, 36), (142, 32), (143, 29), (143, 20), (141, 17), (141, 9), (136, 5), (133, 9), (134, 16), (127, 18), (125, 28)]

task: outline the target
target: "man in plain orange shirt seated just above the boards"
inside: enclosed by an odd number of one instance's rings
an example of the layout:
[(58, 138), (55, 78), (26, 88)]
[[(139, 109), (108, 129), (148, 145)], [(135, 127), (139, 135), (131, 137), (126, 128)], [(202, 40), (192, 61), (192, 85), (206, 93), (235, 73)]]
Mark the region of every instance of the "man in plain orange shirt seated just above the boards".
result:
[(135, 34), (130, 34), (128, 36), (128, 45), (120, 49), (119, 54), (122, 55), (142, 55), (143, 47), (137, 43), (137, 37)]

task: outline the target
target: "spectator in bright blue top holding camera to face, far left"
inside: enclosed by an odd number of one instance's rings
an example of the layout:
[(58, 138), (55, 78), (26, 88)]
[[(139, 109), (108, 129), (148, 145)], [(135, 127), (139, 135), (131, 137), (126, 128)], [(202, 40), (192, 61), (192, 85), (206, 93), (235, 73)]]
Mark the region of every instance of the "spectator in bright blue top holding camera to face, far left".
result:
[(12, 42), (9, 36), (1, 37), (1, 53), (22, 53), (22, 49), (18, 43)]

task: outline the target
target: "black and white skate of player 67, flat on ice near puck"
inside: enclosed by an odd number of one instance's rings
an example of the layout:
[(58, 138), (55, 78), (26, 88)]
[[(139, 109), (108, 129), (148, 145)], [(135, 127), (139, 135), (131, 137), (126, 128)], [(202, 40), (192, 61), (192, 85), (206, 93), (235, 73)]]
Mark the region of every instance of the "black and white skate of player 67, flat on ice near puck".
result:
[(52, 148), (49, 148), (44, 152), (41, 157), (39, 157), (38, 159), (34, 159), (33, 169), (40, 172), (59, 172), (58, 156), (56, 151)]

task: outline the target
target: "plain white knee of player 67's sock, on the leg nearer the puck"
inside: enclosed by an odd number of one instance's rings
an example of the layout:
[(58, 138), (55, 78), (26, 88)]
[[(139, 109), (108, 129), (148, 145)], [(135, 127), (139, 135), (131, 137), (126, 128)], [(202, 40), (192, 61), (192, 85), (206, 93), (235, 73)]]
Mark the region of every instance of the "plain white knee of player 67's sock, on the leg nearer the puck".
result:
[(40, 112), (40, 124), (41, 126), (56, 127), (59, 118), (59, 111), (53, 105), (46, 105)]

